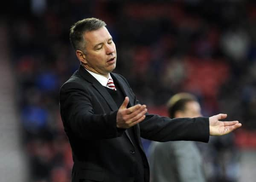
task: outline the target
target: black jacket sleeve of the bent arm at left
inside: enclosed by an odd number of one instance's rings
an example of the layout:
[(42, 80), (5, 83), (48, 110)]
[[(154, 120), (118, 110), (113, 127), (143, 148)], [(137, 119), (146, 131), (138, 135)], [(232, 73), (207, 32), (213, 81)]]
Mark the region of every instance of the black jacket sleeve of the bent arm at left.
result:
[(110, 139), (124, 132), (116, 127), (117, 111), (95, 114), (91, 93), (76, 82), (61, 87), (59, 101), (66, 133), (72, 132), (83, 139)]

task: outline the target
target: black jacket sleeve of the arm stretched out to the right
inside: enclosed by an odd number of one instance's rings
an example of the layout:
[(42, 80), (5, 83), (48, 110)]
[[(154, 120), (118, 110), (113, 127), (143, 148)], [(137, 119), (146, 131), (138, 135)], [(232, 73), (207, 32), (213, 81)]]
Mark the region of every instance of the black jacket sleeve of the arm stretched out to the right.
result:
[[(124, 77), (122, 79), (130, 89), (133, 104), (140, 104), (126, 79)], [(171, 119), (147, 113), (146, 118), (139, 125), (141, 137), (157, 142), (176, 140), (209, 141), (209, 118), (207, 117)]]

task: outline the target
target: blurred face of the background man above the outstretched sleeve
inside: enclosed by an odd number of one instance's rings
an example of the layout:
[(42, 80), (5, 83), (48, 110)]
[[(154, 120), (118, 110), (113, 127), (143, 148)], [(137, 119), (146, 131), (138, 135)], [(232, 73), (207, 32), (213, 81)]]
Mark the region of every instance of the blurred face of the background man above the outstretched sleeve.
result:
[(200, 117), (201, 107), (196, 101), (189, 101), (185, 104), (185, 110), (180, 112), (182, 118), (195, 118)]

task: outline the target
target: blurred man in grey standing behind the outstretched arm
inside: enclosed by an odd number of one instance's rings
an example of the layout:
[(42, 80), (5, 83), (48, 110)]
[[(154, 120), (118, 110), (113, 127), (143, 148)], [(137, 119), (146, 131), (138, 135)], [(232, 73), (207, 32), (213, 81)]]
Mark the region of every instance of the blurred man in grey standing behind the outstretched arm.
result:
[[(201, 116), (201, 107), (189, 93), (178, 93), (167, 103), (170, 118)], [(152, 142), (150, 147), (152, 182), (205, 182), (201, 154), (194, 142)]]

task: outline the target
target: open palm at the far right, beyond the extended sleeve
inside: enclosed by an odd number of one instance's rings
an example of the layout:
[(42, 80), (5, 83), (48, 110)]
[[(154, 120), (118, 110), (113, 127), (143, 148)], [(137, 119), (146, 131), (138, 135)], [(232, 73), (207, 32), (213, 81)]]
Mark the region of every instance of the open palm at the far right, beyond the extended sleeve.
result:
[(221, 136), (236, 130), (242, 124), (239, 121), (219, 121), (220, 119), (227, 118), (227, 114), (218, 114), (209, 117), (210, 135)]

